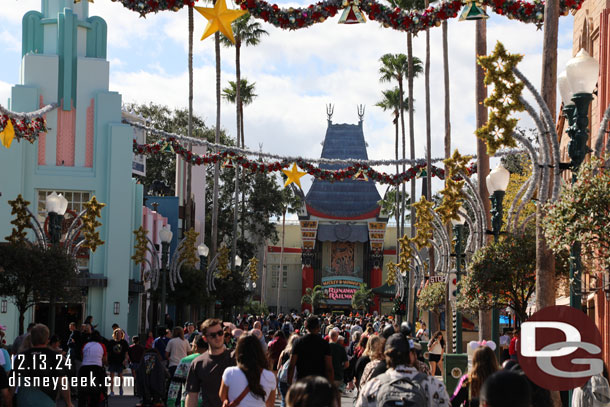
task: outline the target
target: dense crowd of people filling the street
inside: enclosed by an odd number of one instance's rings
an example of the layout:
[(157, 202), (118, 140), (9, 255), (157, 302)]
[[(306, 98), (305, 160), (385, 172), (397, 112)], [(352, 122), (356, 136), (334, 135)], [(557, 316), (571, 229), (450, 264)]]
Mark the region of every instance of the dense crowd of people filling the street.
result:
[[(212, 318), (159, 328), (156, 337), (149, 332), (143, 341), (138, 336), (130, 341), (116, 324), (105, 339), (92, 318), (80, 329), (71, 324), (70, 331), (62, 344), (45, 325), (30, 324), (15, 339), (12, 357), (0, 351), (0, 406), (12, 406), (14, 399), (19, 407), (51, 407), (61, 396), (68, 407), (75, 398), (79, 406), (97, 407), (115, 390), (123, 395), (123, 380), (117, 389), (114, 378), (127, 368), (138, 406), (272, 407), (280, 399), (282, 407), (340, 407), (342, 396), (356, 407), (553, 406), (551, 393), (532, 383), (515, 358), (500, 366), (485, 343), (448, 394), (436, 375), (443, 369), (442, 332), (429, 335), (425, 324), (399, 326), (390, 317)], [(428, 346), (427, 360), (420, 340)], [(41, 360), (54, 369), (43, 368)], [(9, 386), (8, 377), (25, 376), (57, 380), (37, 385), (14, 380)], [(70, 378), (78, 379), (69, 382), (77, 385), (57, 384)], [(573, 405), (610, 402), (607, 378), (590, 382), (574, 392)]]

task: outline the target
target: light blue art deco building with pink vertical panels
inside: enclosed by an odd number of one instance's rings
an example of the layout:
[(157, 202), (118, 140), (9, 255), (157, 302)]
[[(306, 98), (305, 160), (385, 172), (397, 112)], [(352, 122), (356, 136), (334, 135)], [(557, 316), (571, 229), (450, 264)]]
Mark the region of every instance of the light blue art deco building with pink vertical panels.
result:
[[(34, 144), (0, 148), (0, 172), (11, 174), (0, 184), (0, 239), (12, 229), (7, 201), (19, 194), (41, 219), (45, 197), (53, 191), (62, 192), (75, 213), (95, 195), (106, 204), (99, 228), (105, 244), (79, 257), (88, 272), (82, 279), (86, 299), (58, 305), (56, 330), (61, 333), (68, 322), (93, 315), (102, 335), (109, 336), (115, 322), (133, 335), (138, 332), (141, 284), (139, 267), (130, 257), (132, 231), (142, 220), (143, 190), (132, 178), (134, 133), (121, 123), (121, 95), (108, 89), (106, 22), (89, 17), (88, 11), (88, 1), (42, 0), (42, 12), (23, 17), (21, 83), (12, 88), (9, 108), (29, 112), (49, 103), (59, 108), (47, 114), (49, 131)], [(29, 312), (26, 324), (46, 322), (44, 315), (48, 305), (41, 304)], [(0, 323), (8, 326), (10, 343), (18, 327), (10, 301)]]

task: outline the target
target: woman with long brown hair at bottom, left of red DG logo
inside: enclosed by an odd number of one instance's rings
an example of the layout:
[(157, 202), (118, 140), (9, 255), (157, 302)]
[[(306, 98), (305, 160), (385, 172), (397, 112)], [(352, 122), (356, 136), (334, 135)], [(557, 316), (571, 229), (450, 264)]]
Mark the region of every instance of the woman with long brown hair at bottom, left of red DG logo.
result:
[(488, 346), (480, 346), (472, 356), (470, 371), (462, 376), (451, 397), (452, 407), (478, 407), (479, 394), (489, 376), (500, 370), (496, 354)]

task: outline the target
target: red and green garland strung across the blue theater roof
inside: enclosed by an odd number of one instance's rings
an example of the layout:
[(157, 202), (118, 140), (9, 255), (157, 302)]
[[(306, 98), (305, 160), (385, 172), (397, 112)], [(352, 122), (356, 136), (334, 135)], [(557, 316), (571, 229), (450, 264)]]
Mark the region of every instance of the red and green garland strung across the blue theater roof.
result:
[[(250, 170), (252, 173), (265, 173), (265, 172), (277, 172), (285, 168), (290, 167), (291, 161), (281, 160), (274, 162), (262, 162), (257, 160), (249, 159), (242, 155), (237, 155), (233, 151), (221, 151), (218, 153), (210, 153), (205, 155), (195, 154), (186, 148), (184, 148), (175, 138), (168, 137), (162, 139), (153, 144), (138, 144), (134, 139), (133, 141), (133, 152), (139, 155), (156, 155), (162, 154), (166, 151), (178, 154), (187, 163), (192, 165), (202, 164), (214, 164), (217, 162), (225, 163), (225, 166), (239, 165), (246, 170)], [(371, 168), (366, 164), (355, 163), (346, 168), (339, 170), (326, 170), (320, 167), (316, 167), (313, 164), (305, 161), (304, 159), (297, 159), (296, 164), (307, 172), (309, 175), (321, 181), (345, 181), (346, 179), (362, 179), (364, 175), (367, 179), (371, 179), (380, 184), (389, 185), (400, 185), (403, 182), (408, 182), (418, 175), (423, 175), (422, 172), (425, 170), (425, 164), (418, 164), (414, 167), (409, 168), (405, 172), (399, 174), (387, 174), (385, 172), (379, 172)], [(468, 168), (470, 174), (475, 172), (474, 163)], [(431, 175), (444, 179), (445, 171), (442, 168), (432, 167)]]

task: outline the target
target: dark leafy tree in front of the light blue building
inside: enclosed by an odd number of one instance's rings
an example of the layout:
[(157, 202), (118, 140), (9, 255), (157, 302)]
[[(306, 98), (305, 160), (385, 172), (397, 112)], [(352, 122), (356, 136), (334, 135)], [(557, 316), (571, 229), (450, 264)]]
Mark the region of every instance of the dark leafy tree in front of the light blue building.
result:
[(0, 245), (0, 296), (10, 298), (19, 311), (19, 334), (25, 313), (54, 297), (70, 301), (80, 296), (76, 263), (61, 247), (35, 244)]

